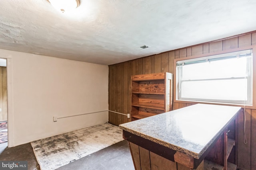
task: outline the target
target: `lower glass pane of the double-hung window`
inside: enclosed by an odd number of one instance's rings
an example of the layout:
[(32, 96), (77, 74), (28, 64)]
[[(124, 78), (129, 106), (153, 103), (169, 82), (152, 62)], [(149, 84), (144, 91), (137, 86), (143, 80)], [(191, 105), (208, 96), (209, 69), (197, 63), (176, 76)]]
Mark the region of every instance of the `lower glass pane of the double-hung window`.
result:
[(247, 79), (182, 82), (181, 90), (181, 98), (244, 101)]

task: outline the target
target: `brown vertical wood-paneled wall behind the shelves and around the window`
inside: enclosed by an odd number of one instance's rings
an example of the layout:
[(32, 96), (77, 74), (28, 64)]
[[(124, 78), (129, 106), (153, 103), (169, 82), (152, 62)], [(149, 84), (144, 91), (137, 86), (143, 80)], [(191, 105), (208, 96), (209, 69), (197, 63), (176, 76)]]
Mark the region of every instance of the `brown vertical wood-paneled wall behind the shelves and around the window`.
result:
[[(238, 47), (256, 45), (256, 31), (240, 36), (194, 45), (158, 55), (143, 57), (109, 66), (109, 110), (130, 113), (131, 110), (131, 75), (158, 72), (174, 73), (174, 59), (219, 52)], [(256, 59), (256, 55), (254, 56)], [(256, 89), (254, 89), (256, 90)], [(253, 100), (256, 100), (254, 96)], [(188, 103), (174, 103), (173, 109), (190, 106)], [(238, 167), (245, 170), (256, 170), (256, 110), (246, 109), (244, 144), (244, 114), (238, 116)], [(127, 116), (109, 112), (109, 123), (119, 125), (131, 119)]]

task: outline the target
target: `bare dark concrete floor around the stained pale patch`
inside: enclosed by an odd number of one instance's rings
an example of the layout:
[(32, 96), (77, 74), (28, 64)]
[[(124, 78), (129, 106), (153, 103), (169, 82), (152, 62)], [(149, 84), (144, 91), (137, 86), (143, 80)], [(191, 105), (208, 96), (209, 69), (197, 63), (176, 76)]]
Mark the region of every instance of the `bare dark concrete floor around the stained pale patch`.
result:
[[(7, 143), (0, 144), (0, 160), (28, 161), (28, 170), (40, 170), (30, 143), (7, 148)], [(121, 141), (99, 150), (58, 170), (134, 170), (127, 141)]]

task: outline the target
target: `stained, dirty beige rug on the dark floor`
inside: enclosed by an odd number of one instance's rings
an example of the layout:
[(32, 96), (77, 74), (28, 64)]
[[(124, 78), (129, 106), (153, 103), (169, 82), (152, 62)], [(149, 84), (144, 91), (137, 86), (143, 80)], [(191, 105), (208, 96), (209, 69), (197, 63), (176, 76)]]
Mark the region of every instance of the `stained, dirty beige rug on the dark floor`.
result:
[(31, 142), (41, 170), (55, 170), (122, 141), (122, 130), (110, 123)]

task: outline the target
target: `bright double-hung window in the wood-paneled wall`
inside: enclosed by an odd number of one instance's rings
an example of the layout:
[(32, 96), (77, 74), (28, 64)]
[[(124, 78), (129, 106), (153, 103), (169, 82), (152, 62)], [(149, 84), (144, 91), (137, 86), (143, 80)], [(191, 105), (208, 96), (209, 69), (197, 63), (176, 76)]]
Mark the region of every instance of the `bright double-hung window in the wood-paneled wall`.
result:
[(176, 100), (252, 106), (252, 49), (176, 61)]

